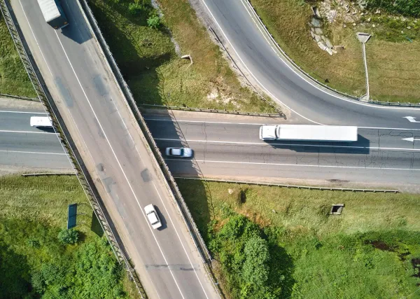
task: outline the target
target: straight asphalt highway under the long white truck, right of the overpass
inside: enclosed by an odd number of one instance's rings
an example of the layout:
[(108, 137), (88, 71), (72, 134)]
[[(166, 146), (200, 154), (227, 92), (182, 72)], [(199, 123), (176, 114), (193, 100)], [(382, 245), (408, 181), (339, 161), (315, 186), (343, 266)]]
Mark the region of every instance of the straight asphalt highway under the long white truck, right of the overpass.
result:
[[(359, 129), (352, 143), (261, 141), (258, 123), (200, 122), (184, 116), (147, 116), (162, 151), (167, 146), (195, 150), (195, 162), (169, 158), (172, 172), (183, 176), (264, 177), (342, 180), (354, 183), (420, 182), (420, 130)], [(171, 124), (172, 125), (169, 125)]]

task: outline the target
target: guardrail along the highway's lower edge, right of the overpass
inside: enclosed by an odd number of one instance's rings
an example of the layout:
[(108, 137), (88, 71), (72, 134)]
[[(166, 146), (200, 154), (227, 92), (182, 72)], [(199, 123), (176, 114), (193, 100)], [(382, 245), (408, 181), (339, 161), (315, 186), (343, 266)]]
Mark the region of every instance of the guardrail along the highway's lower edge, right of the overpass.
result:
[(214, 182), (217, 182), (217, 183), (240, 183), (240, 184), (244, 184), (244, 185), (297, 188), (297, 189), (309, 189), (309, 190), (331, 190), (331, 191), (352, 191), (352, 192), (373, 192), (373, 193), (400, 193), (400, 191), (398, 191), (398, 190), (299, 186), (299, 185), (288, 185), (288, 184), (284, 184), (284, 183), (259, 183), (259, 182), (255, 182), (255, 181), (234, 181), (234, 180), (223, 180), (223, 179), (189, 178), (189, 177), (185, 177), (185, 176), (175, 176), (175, 179), (190, 179), (190, 180), (195, 180), (195, 181), (214, 181)]

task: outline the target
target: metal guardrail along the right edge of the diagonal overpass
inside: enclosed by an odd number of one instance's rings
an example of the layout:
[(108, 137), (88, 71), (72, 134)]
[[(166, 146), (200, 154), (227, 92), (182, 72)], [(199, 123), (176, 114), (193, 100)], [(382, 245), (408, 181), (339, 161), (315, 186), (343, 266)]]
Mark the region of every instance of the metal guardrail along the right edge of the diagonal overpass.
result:
[(99, 28), (99, 25), (97, 23), (97, 20), (94, 18), (94, 15), (87, 4), (87, 1), (78, 0), (78, 4), (80, 4), (80, 7), (82, 8), (83, 13), (85, 14), (85, 18), (89, 22), (91, 30), (94, 33), (94, 36), (96, 37), (99, 43), (99, 46), (100, 46), (99, 48), (103, 51), (105, 60), (109, 64), (109, 68), (112, 70), (112, 74), (116, 82), (118, 83), (121, 92), (123, 93), (123, 95), (125, 95), (127, 104), (130, 106), (132, 113), (134, 114), (134, 117), (136, 118), (142, 132), (144, 133), (144, 137), (149, 146), (148, 150), (151, 153), (151, 157), (153, 161), (162, 170), (162, 173), (165, 176), (165, 179), (167, 182), (167, 188), (169, 189), (171, 194), (174, 196), (174, 201), (176, 202), (177, 207), (179, 208), (179, 211), (181, 211), (181, 216), (183, 217), (183, 221), (186, 223), (190, 236), (193, 239), (193, 242), (195, 243), (195, 246), (197, 247), (200, 253), (202, 261), (205, 265), (205, 269), (207, 270), (209, 274), (209, 279), (213, 281), (216, 291), (218, 291), (219, 296), (221, 296), (221, 290), (220, 288), (218, 288), (218, 284), (214, 282), (216, 278), (214, 277), (214, 274), (211, 272), (210, 266), (211, 266), (212, 258), (211, 258), (209, 249), (207, 249), (207, 246), (204, 240), (202, 239), (202, 236), (200, 235), (200, 231), (198, 230), (197, 225), (194, 222), (193, 216), (191, 216), (190, 214), (190, 210), (188, 209), (187, 204), (185, 200), (183, 199), (183, 196), (181, 195), (181, 191), (176, 185), (176, 181), (174, 177), (172, 176), (172, 173), (170, 172), (169, 168), (167, 167), (167, 164), (165, 160), (163, 159), (158, 146), (155, 144), (155, 140), (153, 139), (152, 134), (150, 130), (148, 129), (148, 126), (146, 125), (146, 121), (144, 120), (143, 116), (141, 115), (139, 111), (139, 107), (137, 106), (134, 100), (134, 96), (132, 95), (132, 92), (129, 86), (125, 82), (125, 79), (123, 78), (123, 75), (120, 72), (120, 69), (118, 67), (116, 60), (114, 60), (113, 58), (111, 49), (106, 43), (104, 36), (102, 35), (101, 29)]

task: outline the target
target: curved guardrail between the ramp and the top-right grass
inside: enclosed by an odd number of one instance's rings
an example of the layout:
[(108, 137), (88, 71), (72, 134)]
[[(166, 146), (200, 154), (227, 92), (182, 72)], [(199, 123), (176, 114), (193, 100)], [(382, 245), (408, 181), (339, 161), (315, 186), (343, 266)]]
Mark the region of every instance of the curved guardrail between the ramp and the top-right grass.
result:
[[(331, 88), (330, 86), (322, 83), (321, 81), (318, 81), (316, 78), (314, 78), (313, 76), (311, 76), (310, 74), (308, 74), (306, 71), (304, 71), (302, 69), (302, 67), (300, 67), (299, 65), (296, 64), (296, 62), (294, 62), (288, 55), (286, 52), (283, 51), (283, 49), (280, 47), (279, 43), (276, 42), (276, 40), (274, 39), (274, 36), (272, 36), (272, 34), (269, 32), (268, 28), (265, 26), (264, 22), (262, 22), (260, 16), (258, 15), (257, 11), (255, 10), (255, 8), (252, 6), (251, 1), (250, 0), (246, 0), (245, 1), (246, 4), (248, 4), (249, 8), (251, 8), (251, 12), (253, 13), (253, 15), (255, 16), (255, 18), (258, 20), (258, 22), (260, 23), (260, 25), (262, 26), (262, 28), (264, 29), (264, 31), (267, 33), (267, 35), (269, 36), (269, 38), (271, 39), (271, 41), (274, 43), (274, 45), (276, 46), (276, 48), (281, 52), (281, 54), (283, 55), (283, 57), (286, 58), (286, 60), (288, 60), (288, 62), (290, 62), (290, 64), (293, 65), (293, 67), (295, 67), (296, 69), (298, 69), (302, 74), (304, 74), (304, 76), (306, 76), (307, 78), (309, 78), (311, 81), (314, 81), (316, 84), (321, 85), (323, 88), (326, 88), (332, 92), (335, 92), (339, 95), (342, 95), (344, 97), (348, 97), (350, 99), (356, 100), (358, 102), (365, 102), (368, 104), (377, 104), (377, 105), (383, 105), (383, 106), (405, 106), (405, 107), (413, 107), (413, 108), (420, 108), (420, 104), (412, 104), (412, 103), (400, 103), (400, 102), (381, 102), (381, 101), (374, 101), (372, 99), (369, 100), (363, 100), (360, 97), (355, 97), (354, 95), (349, 95), (346, 92), (342, 92), (339, 90), (336, 90), (334, 88)], [(213, 29), (212, 29), (213, 30)]]

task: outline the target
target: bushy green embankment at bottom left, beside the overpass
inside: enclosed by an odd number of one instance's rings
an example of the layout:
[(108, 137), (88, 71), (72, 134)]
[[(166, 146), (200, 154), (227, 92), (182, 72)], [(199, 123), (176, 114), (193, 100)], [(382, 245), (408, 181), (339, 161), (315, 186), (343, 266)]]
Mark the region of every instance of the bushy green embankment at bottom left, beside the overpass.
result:
[[(62, 244), (71, 203), (85, 215)], [(76, 177), (2, 176), (0, 206), (0, 298), (137, 298)]]

